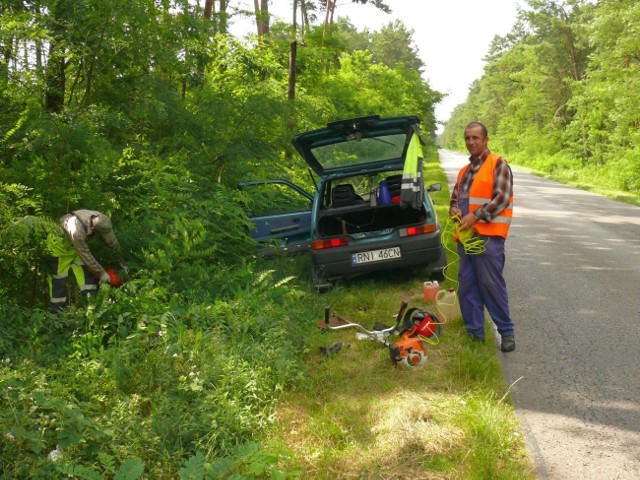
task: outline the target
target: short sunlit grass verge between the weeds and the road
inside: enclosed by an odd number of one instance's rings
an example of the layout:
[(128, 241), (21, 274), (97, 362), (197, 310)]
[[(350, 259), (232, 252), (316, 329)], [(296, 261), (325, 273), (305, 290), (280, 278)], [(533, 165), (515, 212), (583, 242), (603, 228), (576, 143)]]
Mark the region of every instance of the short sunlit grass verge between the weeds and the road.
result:
[[(448, 192), (437, 162), (425, 174), (442, 182), (434, 195), (446, 221)], [(448, 240), (447, 240), (448, 241)], [(450, 257), (444, 286), (457, 275)], [(366, 328), (391, 324), (402, 300), (427, 307), (427, 272), (399, 272), (342, 282), (315, 298)], [(384, 345), (357, 340), (355, 330), (317, 328), (308, 339), (305, 381), (284, 395), (272, 440), (293, 452), (302, 478), (534, 478), (524, 436), (505, 384), (490, 329), (471, 342), (461, 320), (448, 319), (424, 369), (399, 369)], [(342, 342), (335, 354), (320, 347)]]

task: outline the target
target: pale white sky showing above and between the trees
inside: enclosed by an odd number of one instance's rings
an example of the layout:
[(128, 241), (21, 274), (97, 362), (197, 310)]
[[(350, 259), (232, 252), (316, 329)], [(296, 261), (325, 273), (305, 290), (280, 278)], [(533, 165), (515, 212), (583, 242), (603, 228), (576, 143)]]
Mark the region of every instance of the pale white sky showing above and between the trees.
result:
[[(491, 40), (511, 31), (516, 7), (525, 5), (524, 0), (386, 0), (392, 13), (385, 14), (369, 3), (337, 1), (336, 16), (348, 17), (359, 30), (378, 30), (395, 19), (413, 30), (414, 45), (425, 64), (425, 80), (432, 89), (447, 94), (436, 107), (440, 122), (448, 120), (454, 107), (465, 101), (471, 83), (482, 76)], [(253, 8), (253, 2), (247, 0), (229, 2), (231, 6), (242, 3)], [(291, 0), (271, 0), (270, 13), (290, 22), (291, 4)], [(249, 28), (254, 29), (253, 25)], [(240, 32), (242, 26), (230, 30)]]

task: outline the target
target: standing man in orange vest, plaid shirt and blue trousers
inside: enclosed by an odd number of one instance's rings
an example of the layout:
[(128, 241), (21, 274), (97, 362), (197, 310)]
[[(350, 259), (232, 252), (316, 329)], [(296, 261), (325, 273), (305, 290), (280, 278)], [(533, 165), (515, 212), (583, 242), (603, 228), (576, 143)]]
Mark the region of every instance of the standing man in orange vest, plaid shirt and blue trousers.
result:
[[(487, 127), (482, 123), (467, 125), (464, 139), (471, 156), (458, 173), (449, 209), (460, 222), (460, 310), (470, 338), (484, 341), (486, 307), (501, 336), (501, 350), (511, 352), (516, 343), (503, 269), (513, 216), (513, 174), (505, 159), (489, 151)], [(463, 233), (469, 231), (481, 248), (465, 249)]]

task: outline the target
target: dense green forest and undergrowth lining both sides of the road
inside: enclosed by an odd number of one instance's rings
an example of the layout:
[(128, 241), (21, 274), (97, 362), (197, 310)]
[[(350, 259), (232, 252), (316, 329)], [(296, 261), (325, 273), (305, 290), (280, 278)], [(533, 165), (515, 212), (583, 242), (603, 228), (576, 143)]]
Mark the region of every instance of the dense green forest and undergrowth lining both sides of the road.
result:
[[(637, 2), (528, 0), (440, 138), (444, 94), (419, 56), (432, 47), (402, 22), (358, 31), (332, 0), (293, 1), (291, 23), (268, 8), (0, 4), (2, 478), (299, 475), (265, 439), (305, 380), (322, 299), (304, 259), (255, 257), (236, 188), (312, 189), (295, 133), (415, 114), (433, 157), (480, 119), (515, 164), (640, 193)], [(228, 33), (241, 15), (250, 37)], [(45, 239), (79, 208), (110, 216), (131, 271), (88, 304), (71, 285), (50, 313)]]

